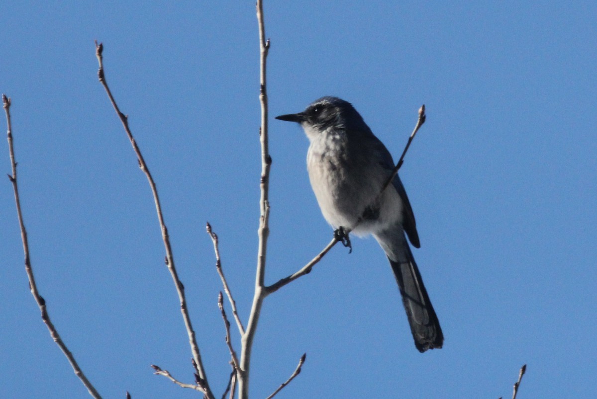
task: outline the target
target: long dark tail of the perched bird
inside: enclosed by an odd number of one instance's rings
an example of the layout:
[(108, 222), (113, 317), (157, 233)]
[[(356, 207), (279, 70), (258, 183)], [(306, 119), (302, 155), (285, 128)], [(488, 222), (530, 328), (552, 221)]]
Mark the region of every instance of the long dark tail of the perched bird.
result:
[(415, 346), (419, 352), (441, 348), (444, 335), (404, 233), (400, 229), (376, 234), (375, 237), (392, 266)]

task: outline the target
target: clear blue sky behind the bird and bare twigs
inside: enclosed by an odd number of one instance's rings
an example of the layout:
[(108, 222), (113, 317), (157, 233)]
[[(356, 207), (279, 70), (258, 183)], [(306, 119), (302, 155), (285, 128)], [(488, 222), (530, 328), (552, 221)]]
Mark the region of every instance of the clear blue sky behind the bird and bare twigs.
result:
[[(445, 344), (414, 348), (383, 252), (354, 239), (353, 253), (334, 248), (264, 302), (253, 397), (287, 379), (303, 352), (303, 372), (280, 397), (509, 397), (524, 363), (519, 398), (595, 397), (595, 2), (265, 10), (270, 116), (337, 95), (398, 157), (426, 104), (400, 174)], [(0, 20), (0, 91), (13, 100), (32, 264), (62, 338), (104, 397), (198, 397), (149, 367), (192, 381), (149, 187), (97, 82), (97, 39), (158, 184), (208, 378), (222, 392), (229, 356), (205, 222), (246, 320), (259, 218), (254, 2), (4, 1)], [(298, 126), (270, 120), (268, 283), (331, 239), (307, 146)], [(0, 159), (9, 172), (5, 140)], [(0, 204), (0, 397), (87, 397), (27, 289), (8, 179)]]

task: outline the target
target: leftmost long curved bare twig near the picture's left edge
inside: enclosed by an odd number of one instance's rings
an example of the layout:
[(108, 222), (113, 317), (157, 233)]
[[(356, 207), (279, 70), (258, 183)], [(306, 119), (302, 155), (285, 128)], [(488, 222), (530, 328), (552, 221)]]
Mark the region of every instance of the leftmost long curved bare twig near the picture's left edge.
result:
[(23, 222), (23, 213), (21, 212), (21, 201), (19, 199), (19, 186), (17, 185), (17, 162), (14, 157), (14, 147), (13, 147), (13, 132), (12, 126), (10, 121), (10, 98), (6, 95), (2, 94), (2, 104), (4, 108), (4, 112), (6, 113), (6, 122), (7, 122), (7, 138), (8, 138), (8, 152), (10, 154), (10, 163), (12, 167), (12, 175), (8, 175), (8, 179), (13, 183), (13, 191), (14, 191), (14, 202), (17, 206), (17, 216), (19, 218), (19, 226), (21, 229), (21, 241), (23, 242), (23, 252), (25, 257), (25, 271), (27, 273), (27, 279), (29, 279), (29, 289), (31, 290), (31, 294), (37, 302), (39, 310), (41, 311), (41, 318), (44, 320), (46, 327), (50, 331), (50, 336), (56, 342), (56, 345), (60, 348), (63, 352), (64, 356), (66, 356), (67, 360), (70, 363), (70, 366), (73, 368), (75, 375), (81, 380), (85, 388), (89, 391), (89, 394), (94, 398), (101, 398), (100, 394), (96, 391), (91, 382), (87, 379), (81, 367), (76, 362), (75, 357), (70, 353), (69, 349), (66, 347), (56, 327), (50, 320), (50, 315), (48, 314), (47, 305), (45, 303), (45, 299), (39, 295), (39, 291), (37, 288), (37, 284), (35, 283), (35, 277), (33, 276), (33, 269), (31, 267), (31, 261), (29, 256), (29, 240), (27, 240), (27, 231), (25, 230), (25, 225)]

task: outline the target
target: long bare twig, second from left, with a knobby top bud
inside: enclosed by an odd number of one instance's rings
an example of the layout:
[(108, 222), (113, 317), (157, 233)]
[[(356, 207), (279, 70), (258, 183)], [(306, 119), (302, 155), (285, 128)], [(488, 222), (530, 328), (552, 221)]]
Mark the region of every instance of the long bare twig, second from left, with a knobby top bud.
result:
[(195, 360), (196, 372), (198, 373), (199, 378), (201, 378), (201, 380), (205, 383), (205, 391), (206, 391), (205, 394), (207, 395), (207, 397), (209, 399), (214, 399), (214, 395), (211, 392), (211, 389), (207, 383), (207, 375), (205, 373), (205, 369), (204, 369), (203, 363), (201, 361), (201, 354), (199, 353), (199, 347), (197, 345), (197, 341), (195, 338), (195, 330), (193, 330), (193, 326), (190, 321), (189, 310), (187, 308), (186, 297), (184, 295), (184, 286), (180, 282), (178, 273), (176, 271), (176, 267), (174, 267), (174, 255), (172, 253), (172, 248), (170, 245), (170, 237), (168, 236), (168, 228), (166, 227), (166, 224), (164, 222), (164, 216), (162, 215), (162, 207), (159, 203), (158, 189), (156, 188), (156, 185), (153, 181), (153, 177), (152, 177), (151, 173), (149, 172), (149, 168), (147, 168), (147, 164), (145, 163), (145, 160), (143, 159), (143, 155), (141, 155), (141, 150), (139, 150), (139, 146), (137, 146), (137, 143), (136, 143), (135, 139), (133, 138), (133, 134), (131, 133), (131, 130), (128, 127), (128, 117), (126, 115), (124, 115), (124, 113), (122, 113), (120, 111), (120, 109), (118, 108), (118, 106), (116, 105), (116, 101), (114, 100), (114, 97), (112, 96), (112, 92), (110, 91), (110, 89), (107, 85), (106, 76), (104, 74), (102, 52), (103, 52), (103, 44), (101, 44), (101, 43), (98, 44), (96, 41), (96, 56), (97, 56), (97, 62), (99, 63), (99, 70), (97, 71), (97, 76), (100, 80), (101, 85), (104, 87), (104, 89), (106, 89), (106, 93), (110, 99), (110, 103), (112, 103), (112, 106), (114, 107), (114, 110), (116, 111), (116, 115), (118, 115), (119, 119), (122, 122), (122, 126), (124, 127), (124, 130), (127, 132), (128, 140), (131, 141), (131, 146), (133, 146), (133, 150), (135, 151), (135, 154), (137, 155), (137, 160), (139, 161), (139, 168), (141, 168), (141, 171), (143, 171), (143, 173), (146, 175), (147, 181), (149, 182), (149, 186), (151, 187), (151, 190), (153, 193), (153, 200), (155, 202), (156, 212), (158, 214), (159, 225), (161, 227), (162, 240), (164, 241), (164, 247), (166, 250), (166, 265), (168, 267), (168, 271), (170, 271), (170, 275), (172, 276), (174, 286), (176, 287), (176, 292), (178, 293), (178, 296), (179, 296), (180, 311), (183, 316), (184, 326), (186, 327), (187, 335), (189, 336), (189, 344), (191, 347), (191, 351), (193, 352), (193, 360)]

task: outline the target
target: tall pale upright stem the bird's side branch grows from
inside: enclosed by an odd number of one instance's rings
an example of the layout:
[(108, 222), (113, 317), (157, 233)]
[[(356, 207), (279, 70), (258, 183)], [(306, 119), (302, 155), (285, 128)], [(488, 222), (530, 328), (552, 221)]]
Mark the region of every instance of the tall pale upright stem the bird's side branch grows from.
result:
[(261, 305), (265, 298), (264, 278), (267, 255), (267, 237), (269, 236), (269, 170), (272, 165), (272, 157), (269, 155), (269, 144), (267, 136), (267, 81), (266, 81), (266, 61), (269, 51), (269, 39), (265, 38), (265, 26), (263, 21), (263, 1), (257, 0), (257, 24), (259, 26), (259, 49), (260, 49), (260, 90), (259, 100), (261, 104), (261, 179), (259, 200), (260, 219), (257, 235), (259, 236), (259, 246), (257, 249), (257, 270), (255, 276), (255, 293), (253, 296), (253, 305), (247, 323), (247, 330), (242, 336), (241, 364), (238, 373), (239, 398), (247, 399), (249, 395), (249, 374), (251, 364), (251, 351), (253, 349), (253, 339), (257, 330), (257, 323), (261, 313)]

